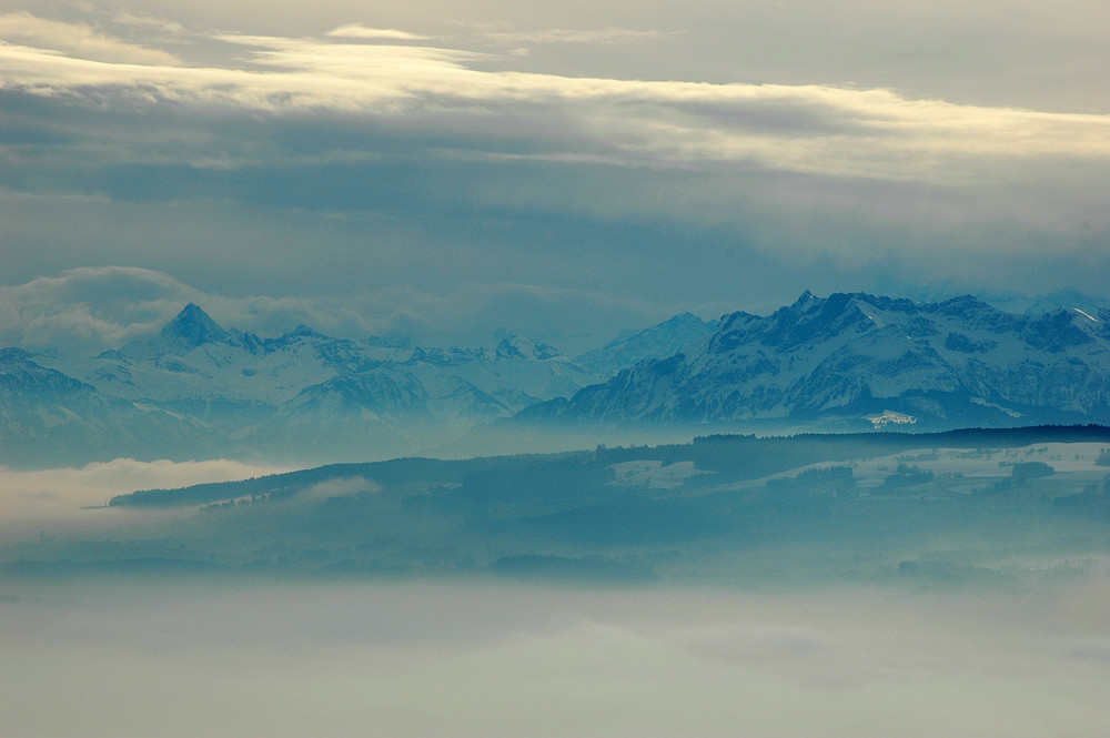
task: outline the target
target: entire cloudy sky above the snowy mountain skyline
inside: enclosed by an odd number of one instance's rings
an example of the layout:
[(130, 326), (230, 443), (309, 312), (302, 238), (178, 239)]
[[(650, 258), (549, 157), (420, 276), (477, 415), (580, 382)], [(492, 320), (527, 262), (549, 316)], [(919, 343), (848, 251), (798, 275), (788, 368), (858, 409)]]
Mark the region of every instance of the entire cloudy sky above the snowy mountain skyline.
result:
[(1107, 27), (1100, 0), (9, 0), (0, 337), (111, 343), (196, 299), (574, 351), (807, 289), (1106, 299)]

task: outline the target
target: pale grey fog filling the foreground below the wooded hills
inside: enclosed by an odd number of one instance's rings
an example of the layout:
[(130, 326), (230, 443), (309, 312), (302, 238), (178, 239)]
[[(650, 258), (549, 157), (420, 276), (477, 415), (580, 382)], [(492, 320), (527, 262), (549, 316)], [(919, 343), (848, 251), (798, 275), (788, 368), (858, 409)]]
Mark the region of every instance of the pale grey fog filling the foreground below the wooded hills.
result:
[(1110, 582), (1025, 595), (6, 583), (0, 732), (1093, 736)]

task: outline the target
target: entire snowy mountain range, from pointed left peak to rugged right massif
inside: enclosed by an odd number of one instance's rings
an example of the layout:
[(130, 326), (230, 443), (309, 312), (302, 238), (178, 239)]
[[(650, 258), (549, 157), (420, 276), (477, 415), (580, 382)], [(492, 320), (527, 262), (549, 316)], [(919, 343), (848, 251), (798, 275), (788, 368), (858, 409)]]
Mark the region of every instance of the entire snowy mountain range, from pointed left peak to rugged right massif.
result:
[(1110, 311), (1017, 315), (972, 296), (806, 292), (766, 316), (676, 315), (575, 357), (523, 335), (492, 348), (305, 325), (262, 337), (195, 304), (93, 357), (0, 350), (0, 463), (19, 466), (323, 463), (581, 427), (1090, 422), (1110, 422)]

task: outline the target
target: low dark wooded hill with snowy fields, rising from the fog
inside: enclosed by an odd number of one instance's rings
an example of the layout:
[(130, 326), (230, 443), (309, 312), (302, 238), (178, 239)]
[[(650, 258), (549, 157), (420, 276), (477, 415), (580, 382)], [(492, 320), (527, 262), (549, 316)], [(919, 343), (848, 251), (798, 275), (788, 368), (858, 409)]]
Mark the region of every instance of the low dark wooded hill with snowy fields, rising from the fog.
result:
[(339, 464), (119, 496), (149, 513), (0, 557), (24, 575), (1020, 586), (1107, 560), (1108, 448), (1110, 428), (1045, 426)]

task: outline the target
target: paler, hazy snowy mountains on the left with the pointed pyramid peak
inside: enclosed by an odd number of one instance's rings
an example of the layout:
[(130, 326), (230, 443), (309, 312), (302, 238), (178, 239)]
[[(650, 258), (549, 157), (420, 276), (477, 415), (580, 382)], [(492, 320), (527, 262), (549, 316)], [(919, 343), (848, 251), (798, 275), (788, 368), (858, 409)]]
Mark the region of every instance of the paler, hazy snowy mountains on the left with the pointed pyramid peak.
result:
[(524, 335), (493, 348), (352, 341), (305, 325), (261, 337), (190, 303), (157, 335), (94, 357), (0, 352), (0, 463), (414, 453), (571, 395), (608, 367), (673, 353), (713, 327), (678, 316), (579, 363)]

